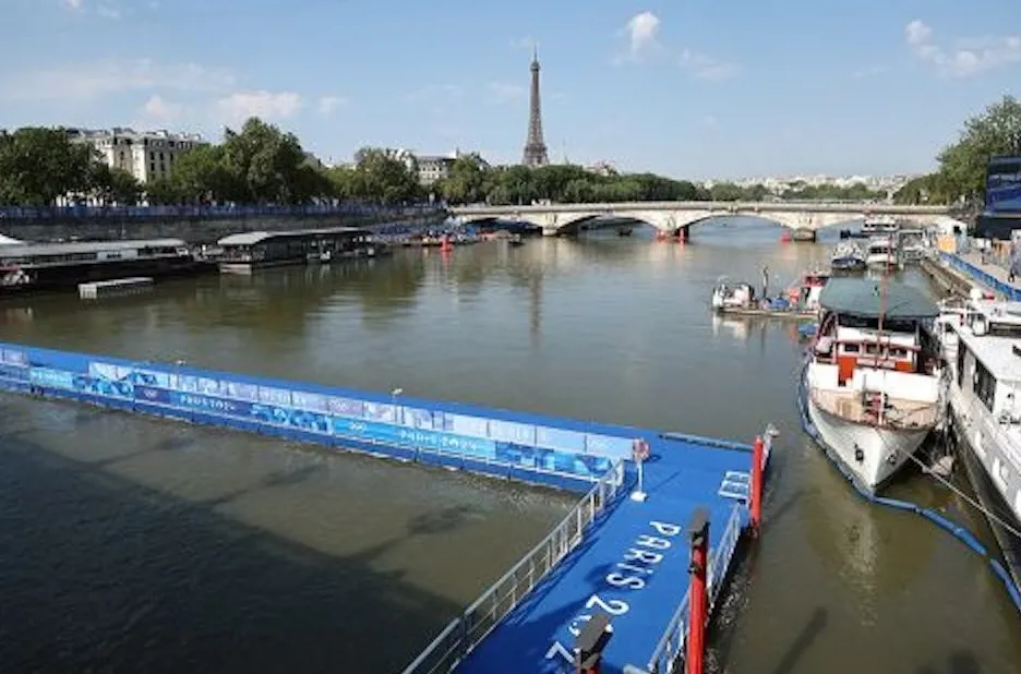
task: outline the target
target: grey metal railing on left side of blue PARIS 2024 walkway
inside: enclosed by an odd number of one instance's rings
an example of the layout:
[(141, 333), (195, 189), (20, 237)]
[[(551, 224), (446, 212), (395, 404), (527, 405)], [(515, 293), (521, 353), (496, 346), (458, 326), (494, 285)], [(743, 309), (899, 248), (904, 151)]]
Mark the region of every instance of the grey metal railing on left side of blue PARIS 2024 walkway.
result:
[(613, 502), (623, 484), (624, 461), (618, 460), (549, 535), (452, 621), (403, 674), (447, 674), (453, 670), (578, 546), (585, 529)]

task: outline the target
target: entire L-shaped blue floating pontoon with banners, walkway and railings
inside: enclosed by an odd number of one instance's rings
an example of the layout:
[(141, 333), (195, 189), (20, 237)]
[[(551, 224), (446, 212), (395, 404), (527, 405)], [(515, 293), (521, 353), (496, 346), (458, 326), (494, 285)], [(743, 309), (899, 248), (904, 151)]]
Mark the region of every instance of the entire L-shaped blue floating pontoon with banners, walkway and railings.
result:
[(760, 521), (772, 435), (749, 445), (2, 342), (0, 389), (582, 494), (405, 674), (568, 673), (576, 648), (634, 674), (700, 658), (692, 645)]

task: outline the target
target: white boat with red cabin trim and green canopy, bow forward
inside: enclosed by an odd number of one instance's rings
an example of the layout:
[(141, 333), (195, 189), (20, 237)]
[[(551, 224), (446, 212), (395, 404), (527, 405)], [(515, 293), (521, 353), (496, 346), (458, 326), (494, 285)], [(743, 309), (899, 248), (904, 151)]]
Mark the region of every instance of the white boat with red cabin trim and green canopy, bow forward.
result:
[(875, 493), (939, 420), (939, 342), (927, 328), (939, 311), (910, 286), (865, 278), (831, 279), (820, 304), (802, 405), (830, 459)]

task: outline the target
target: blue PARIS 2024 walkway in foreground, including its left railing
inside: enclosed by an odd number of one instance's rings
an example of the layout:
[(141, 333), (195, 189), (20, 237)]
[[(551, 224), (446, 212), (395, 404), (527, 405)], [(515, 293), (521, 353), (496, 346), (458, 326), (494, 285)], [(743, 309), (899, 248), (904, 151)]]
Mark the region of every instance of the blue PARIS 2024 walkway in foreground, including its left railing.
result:
[[(658, 437), (650, 452), (654, 460), (646, 468), (645, 501), (628, 497), (633, 482), (615, 493), (609, 483), (605, 490), (597, 486), (577, 514), (483, 593), (404, 674), (445, 672), (452, 661), (456, 674), (574, 672), (576, 641), (600, 612), (612, 627), (601, 651), (603, 671), (675, 671), (684, 659), (690, 600), (689, 522), (705, 509), (711, 611), (748, 525), (753, 452), (695, 437)], [(604, 503), (603, 510), (593, 503)], [(586, 521), (588, 528), (579, 530)], [(564, 541), (570, 541), (569, 552)], [(560, 563), (533, 580), (533, 569), (544, 570), (545, 561), (560, 551), (566, 552)], [(524, 595), (516, 604), (515, 594)], [(506, 612), (495, 625), (494, 612)], [(473, 643), (475, 638), (480, 640)], [(442, 658), (459, 652), (465, 652), (459, 661)]]

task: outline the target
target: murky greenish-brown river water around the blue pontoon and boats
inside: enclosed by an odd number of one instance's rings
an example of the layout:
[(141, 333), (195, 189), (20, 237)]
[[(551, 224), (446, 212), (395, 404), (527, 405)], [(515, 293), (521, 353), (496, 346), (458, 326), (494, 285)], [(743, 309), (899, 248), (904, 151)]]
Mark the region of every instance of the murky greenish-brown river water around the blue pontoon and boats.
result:
[[(480, 243), (0, 306), (0, 339), (750, 441), (762, 538), (711, 633), (735, 674), (1021, 672), (985, 563), (860, 500), (801, 432), (792, 326), (714, 320), (723, 275), (828, 258), (761, 222)], [(917, 272), (906, 282), (927, 288)], [(399, 670), (569, 509), (483, 478), (0, 397), (4, 672)], [(894, 495), (982, 529), (914, 477)]]

